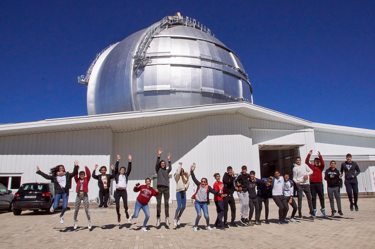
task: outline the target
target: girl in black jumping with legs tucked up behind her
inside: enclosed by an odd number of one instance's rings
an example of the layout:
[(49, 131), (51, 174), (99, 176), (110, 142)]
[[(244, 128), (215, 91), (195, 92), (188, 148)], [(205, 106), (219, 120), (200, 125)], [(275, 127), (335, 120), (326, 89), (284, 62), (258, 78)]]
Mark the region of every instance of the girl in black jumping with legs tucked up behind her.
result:
[[(99, 186), (99, 198), (98, 198), (98, 206), (99, 207), (108, 207), (110, 203), (110, 187), (111, 187), (111, 179), (115, 178), (114, 172), (112, 174), (106, 174), (107, 167), (102, 166), (100, 167), (99, 171), (101, 172), (100, 175), (95, 175), (95, 170), (98, 168), (98, 165), (95, 165), (93, 170), (93, 178), (98, 180)], [(111, 169), (114, 169), (114, 166), (111, 165)]]

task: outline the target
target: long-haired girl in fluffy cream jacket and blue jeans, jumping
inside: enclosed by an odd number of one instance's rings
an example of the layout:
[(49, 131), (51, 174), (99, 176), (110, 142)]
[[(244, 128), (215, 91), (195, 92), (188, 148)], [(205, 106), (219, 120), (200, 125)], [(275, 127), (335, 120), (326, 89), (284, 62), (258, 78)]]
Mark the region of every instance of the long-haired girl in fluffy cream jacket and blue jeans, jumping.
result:
[(174, 179), (176, 181), (176, 199), (177, 199), (177, 209), (173, 219), (173, 225), (177, 227), (180, 225), (180, 217), (182, 212), (184, 212), (186, 207), (186, 190), (189, 188), (189, 177), (190, 172), (184, 172), (182, 168), (182, 163), (178, 163), (177, 172), (174, 173)]

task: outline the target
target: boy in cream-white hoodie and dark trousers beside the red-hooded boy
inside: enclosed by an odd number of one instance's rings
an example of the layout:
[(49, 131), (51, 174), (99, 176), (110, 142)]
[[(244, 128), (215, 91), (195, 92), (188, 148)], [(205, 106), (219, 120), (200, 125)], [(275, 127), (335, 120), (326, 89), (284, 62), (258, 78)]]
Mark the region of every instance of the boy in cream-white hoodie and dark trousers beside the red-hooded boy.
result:
[(293, 168), (293, 181), (296, 183), (297, 196), (298, 196), (298, 215), (302, 219), (302, 192), (305, 193), (307, 202), (310, 209), (310, 215), (316, 217), (312, 211), (312, 200), (311, 200), (311, 190), (309, 184), (309, 175), (313, 173), (312, 169), (309, 168), (304, 163), (301, 163), (301, 157), (296, 158), (296, 163), (294, 163)]

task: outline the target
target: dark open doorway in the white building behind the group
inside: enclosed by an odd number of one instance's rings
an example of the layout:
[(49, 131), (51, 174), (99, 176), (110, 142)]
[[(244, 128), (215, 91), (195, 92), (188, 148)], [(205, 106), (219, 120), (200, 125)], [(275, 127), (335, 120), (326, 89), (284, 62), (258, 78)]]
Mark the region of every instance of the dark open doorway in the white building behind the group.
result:
[(278, 169), (292, 177), (293, 163), (299, 156), (300, 146), (303, 145), (259, 145), (260, 176), (273, 176), (273, 171)]

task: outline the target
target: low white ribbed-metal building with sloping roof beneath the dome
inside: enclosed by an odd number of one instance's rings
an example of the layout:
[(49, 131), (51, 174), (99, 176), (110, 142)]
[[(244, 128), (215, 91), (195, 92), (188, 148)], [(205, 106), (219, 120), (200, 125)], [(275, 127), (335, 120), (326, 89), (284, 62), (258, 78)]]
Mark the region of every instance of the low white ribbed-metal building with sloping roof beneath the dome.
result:
[[(360, 192), (375, 192), (375, 130), (312, 123), (247, 102), (1, 124), (0, 179), (16, 191), (19, 177), (21, 184), (46, 182), (36, 175), (36, 165), (45, 173), (59, 164), (71, 171), (74, 160), (80, 162), (80, 170), (87, 165), (92, 171), (95, 164), (110, 169), (116, 154), (125, 167), (132, 154), (128, 198), (133, 201), (136, 182), (151, 177), (156, 184), (157, 147), (164, 151), (163, 160), (171, 153), (171, 177), (178, 162), (185, 170), (195, 162), (196, 177), (206, 177), (211, 185), (213, 174), (223, 176), (227, 166), (239, 173), (246, 165), (256, 177), (266, 177), (276, 168), (291, 173), (294, 158), (301, 156), (304, 162), (309, 150), (314, 150), (311, 160), (317, 151), (322, 153), (325, 168), (330, 160), (340, 168), (351, 153), (361, 169)], [(173, 178), (170, 185), (175, 199)], [(75, 186), (73, 180), (69, 202), (75, 201)], [(113, 187), (114, 183), (112, 194)], [(188, 197), (195, 188), (191, 181)], [(92, 178), (89, 197), (98, 195), (98, 190)]]

